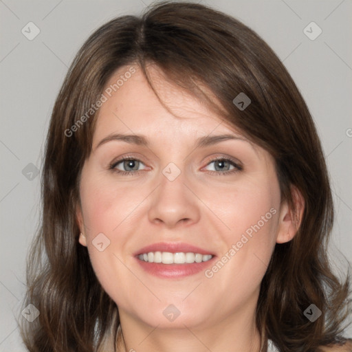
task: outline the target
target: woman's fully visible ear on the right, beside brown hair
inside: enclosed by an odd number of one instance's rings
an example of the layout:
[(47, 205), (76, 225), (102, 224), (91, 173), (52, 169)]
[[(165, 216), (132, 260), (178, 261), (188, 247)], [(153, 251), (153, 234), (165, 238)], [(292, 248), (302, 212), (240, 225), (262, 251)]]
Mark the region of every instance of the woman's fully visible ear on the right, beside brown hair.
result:
[(305, 210), (305, 199), (296, 186), (291, 186), (291, 194), (295, 210), (289, 207), (287, 201), (282, 203), (276, 243), (291, 241), (302, 222), (303, 212)]

